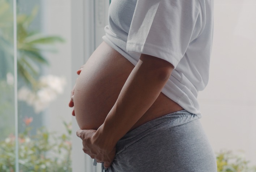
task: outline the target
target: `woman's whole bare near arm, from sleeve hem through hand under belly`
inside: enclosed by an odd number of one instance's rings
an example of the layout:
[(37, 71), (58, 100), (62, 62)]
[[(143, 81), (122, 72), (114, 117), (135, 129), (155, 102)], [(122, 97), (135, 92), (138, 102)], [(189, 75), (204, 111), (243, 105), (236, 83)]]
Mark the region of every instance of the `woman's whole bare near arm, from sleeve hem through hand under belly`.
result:
[(173, 68), (165, 60), (142, 54), (99, 129), (78, 130), (84, 152), (109, 167), (115, 156), (116, 143), (155, 102)]

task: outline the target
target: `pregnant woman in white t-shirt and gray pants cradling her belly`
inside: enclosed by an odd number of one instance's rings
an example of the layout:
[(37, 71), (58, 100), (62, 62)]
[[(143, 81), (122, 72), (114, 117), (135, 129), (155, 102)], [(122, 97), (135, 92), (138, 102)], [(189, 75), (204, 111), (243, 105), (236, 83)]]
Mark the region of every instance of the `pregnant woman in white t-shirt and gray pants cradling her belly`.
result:
[(216, 172), (199, 119), (212, 0), (112, 0), (72, 91), (83, 150), (108, 172)]

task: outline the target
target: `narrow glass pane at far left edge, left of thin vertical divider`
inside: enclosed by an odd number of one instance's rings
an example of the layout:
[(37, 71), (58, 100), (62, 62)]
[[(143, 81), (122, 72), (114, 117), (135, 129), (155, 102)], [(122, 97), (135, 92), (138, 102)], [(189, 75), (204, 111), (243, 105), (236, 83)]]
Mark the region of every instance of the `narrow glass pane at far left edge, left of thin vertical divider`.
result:
[(0, 171), (15, 170), (13, 0), (0, 0)]

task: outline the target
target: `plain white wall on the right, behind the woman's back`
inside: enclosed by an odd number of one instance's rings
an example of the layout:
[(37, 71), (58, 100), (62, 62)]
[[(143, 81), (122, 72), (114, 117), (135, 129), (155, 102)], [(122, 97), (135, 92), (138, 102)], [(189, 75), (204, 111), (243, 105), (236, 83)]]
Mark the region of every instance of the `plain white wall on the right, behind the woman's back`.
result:
[(215, 0), (210, 80), (199, 93), (216, 152), (244, 150), (256, 164), (256, 1)]

